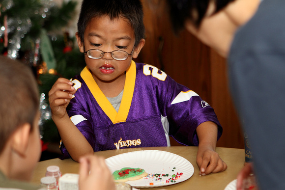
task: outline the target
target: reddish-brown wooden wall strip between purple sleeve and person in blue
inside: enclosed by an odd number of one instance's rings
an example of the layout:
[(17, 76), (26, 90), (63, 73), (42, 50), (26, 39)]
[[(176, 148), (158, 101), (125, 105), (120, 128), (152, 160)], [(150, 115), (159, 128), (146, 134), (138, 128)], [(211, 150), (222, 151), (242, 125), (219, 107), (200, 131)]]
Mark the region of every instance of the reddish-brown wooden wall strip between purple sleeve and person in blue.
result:
[(212, 106), (224, 128), (218, 146), (244, 148), (242, 129), (230, 97), (227, 61), (211, 50)]

